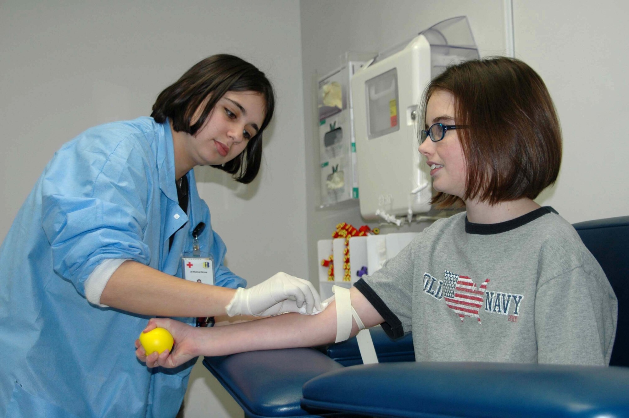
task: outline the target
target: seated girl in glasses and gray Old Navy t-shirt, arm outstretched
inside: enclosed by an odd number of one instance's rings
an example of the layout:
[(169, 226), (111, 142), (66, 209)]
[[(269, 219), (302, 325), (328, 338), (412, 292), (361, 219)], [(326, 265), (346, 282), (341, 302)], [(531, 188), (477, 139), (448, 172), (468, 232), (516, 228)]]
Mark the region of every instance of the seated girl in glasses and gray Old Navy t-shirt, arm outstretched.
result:
[[(382, 324), (393, 338), (413, 331), (418, 361), (607, 365), (616, 296), (571, 224), (533, 201), (557, 179), (562, 153), (542, 79), (512, 58), (464, 62), (428, 85), (420, 115), (433, 204), (466, 211), (355, 283), (364, 326)], [(174, 350), (147, 357), (136, 341), (136, 356), (170, 368), (198, 355), (331, 343), (337, 304), (213, 328), (151, 319), (146, 330), (156, 326), (173, 334)]]

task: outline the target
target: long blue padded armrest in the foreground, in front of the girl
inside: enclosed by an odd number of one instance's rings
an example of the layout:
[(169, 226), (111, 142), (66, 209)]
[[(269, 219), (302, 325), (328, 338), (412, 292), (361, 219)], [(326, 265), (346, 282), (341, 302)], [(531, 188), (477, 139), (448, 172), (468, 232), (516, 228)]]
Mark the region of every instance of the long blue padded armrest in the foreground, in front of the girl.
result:
[(359, 365), (307, 382), (301, 405), (315, 412), (377, 417), (626, 417), (629, 368), (506, 363)]

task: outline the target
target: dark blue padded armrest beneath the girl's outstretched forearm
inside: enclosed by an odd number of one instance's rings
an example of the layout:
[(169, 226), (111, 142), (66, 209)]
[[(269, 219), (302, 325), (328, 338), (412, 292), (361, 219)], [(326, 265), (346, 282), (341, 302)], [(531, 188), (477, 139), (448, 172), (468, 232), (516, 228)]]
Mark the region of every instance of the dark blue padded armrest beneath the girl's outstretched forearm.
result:
[(313, 377), (343, 368), (320, 351), (291, 348), (206, 357), (203, 364), (248, 418), (309, 417), (299, 406), (301, 388)]

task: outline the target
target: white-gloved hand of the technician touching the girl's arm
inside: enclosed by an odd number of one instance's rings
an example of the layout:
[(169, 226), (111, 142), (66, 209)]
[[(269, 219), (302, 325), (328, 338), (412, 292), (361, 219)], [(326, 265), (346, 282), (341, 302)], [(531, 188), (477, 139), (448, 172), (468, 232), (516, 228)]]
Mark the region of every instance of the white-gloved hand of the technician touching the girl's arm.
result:
[(225, 307), (229, 316), (269, 316), (284, 312), (318, 314), (321, 298), (308, 280), (279, 272), (264, 282), (236, 290), (236, 294)]

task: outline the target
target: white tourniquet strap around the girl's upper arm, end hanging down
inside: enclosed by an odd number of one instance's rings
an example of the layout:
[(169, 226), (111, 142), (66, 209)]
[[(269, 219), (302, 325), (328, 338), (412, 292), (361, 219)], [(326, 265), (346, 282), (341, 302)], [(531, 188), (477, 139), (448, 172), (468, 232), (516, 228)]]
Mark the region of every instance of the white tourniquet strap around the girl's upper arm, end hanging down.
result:
[(362, 363), (365, 365), (377, 363), (378, 358), (376, 356), (376, 349), (374, 348), (374, 341), (371, 339), (369, 329), (364, 329), (364, 324), (352, 307), (350, 290), (345, 289), (345, 287), (333, 286), (332, 292), (334, 292), (335, 299), (337, 300), (337, 339), (335, 342), (339, 343), (340, 341), (345, 341), (350, 338), (353, 317), (360, 329), (356, 336), (356, 341), (358, 342)]

